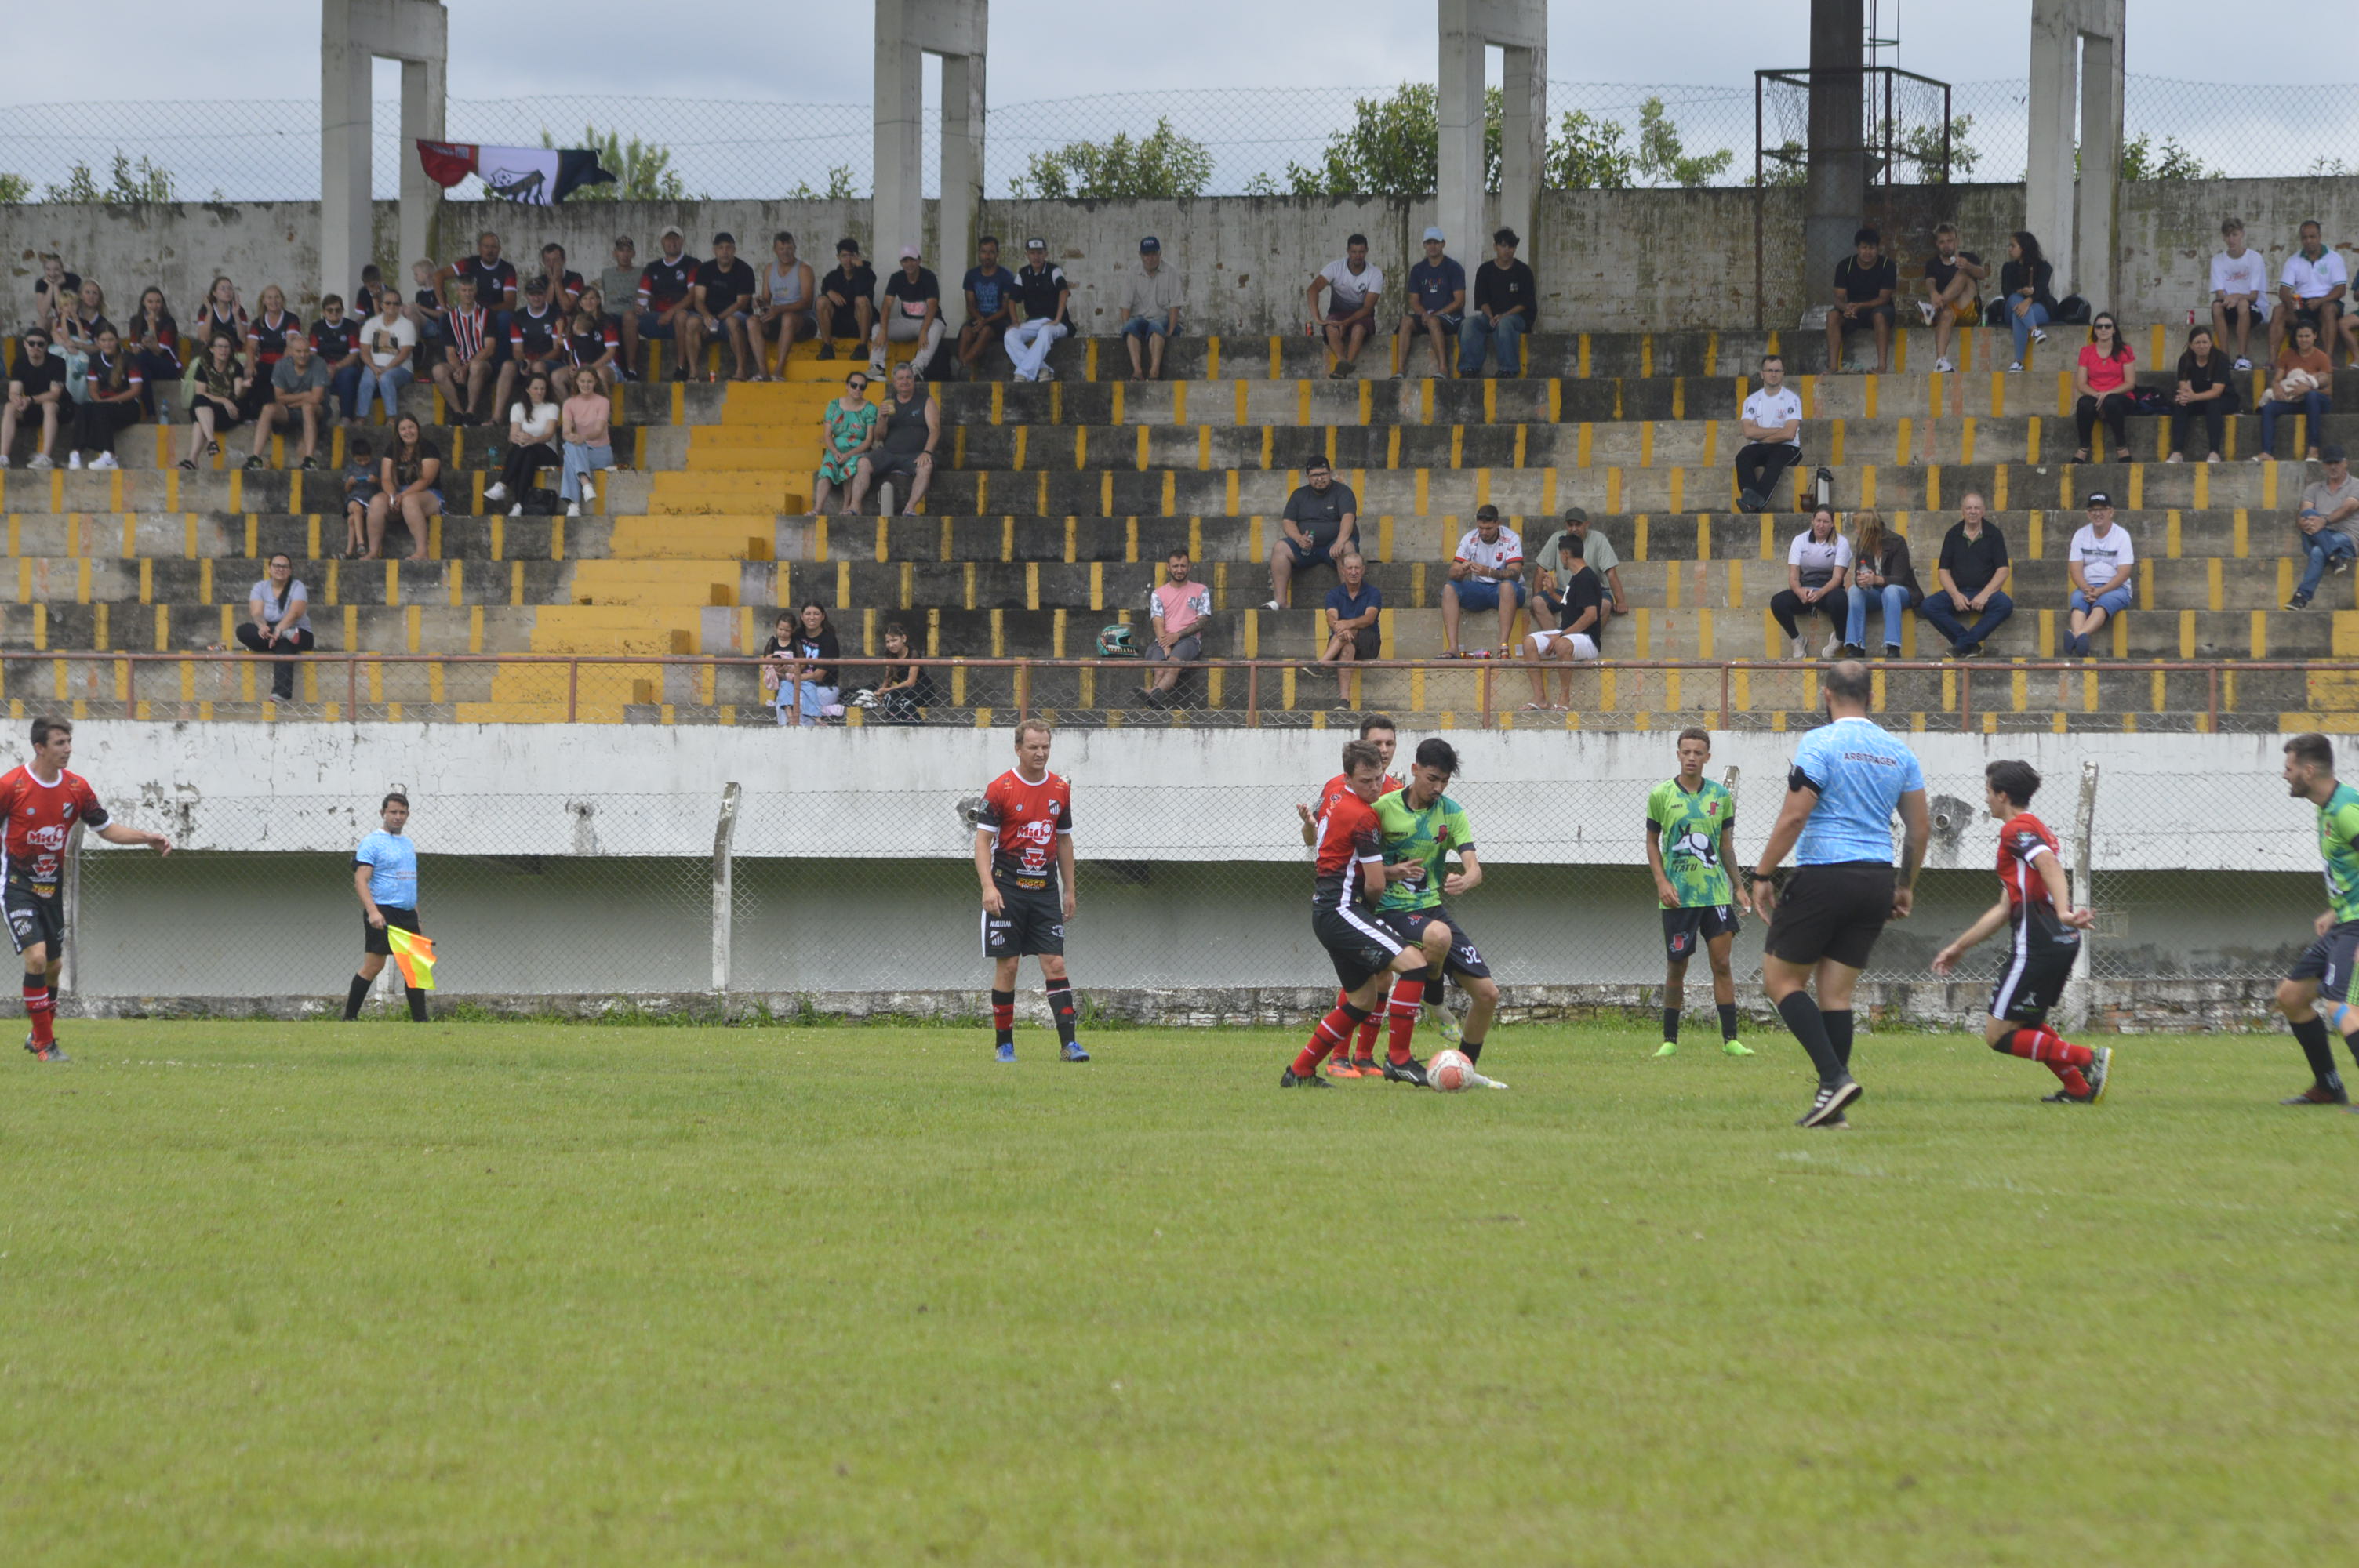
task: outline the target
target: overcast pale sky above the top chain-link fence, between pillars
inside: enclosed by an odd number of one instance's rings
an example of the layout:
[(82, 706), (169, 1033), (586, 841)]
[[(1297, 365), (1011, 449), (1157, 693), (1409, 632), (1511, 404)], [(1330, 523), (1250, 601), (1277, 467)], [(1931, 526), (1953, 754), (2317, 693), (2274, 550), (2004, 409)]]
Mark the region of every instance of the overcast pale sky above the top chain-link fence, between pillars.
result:
[[(191, 26), (184, 0), (106, 0), (109, 38), (167, 40), (172, 85), (146, 97), (300, 99), (318, 92), (318, 0), (241, 0)], [(814, 104), (868, 101), (873, 9), (863, 0), (698, 0), (686, 12), (646, 0), (566, 0), (559, 7), (455, 0), (451, 97), (613, 92)], [(778, 42), (797, 12), (816, 26), (800, 45)], [(1017, 104), (1139, 87), (1288, 85), (1364, 87), (1432, 80), (1434, 2), (1359, 0), (1349, 7), (1272, 0), (1184, 0), (1137, 7), (1121, 0), (995, 0), (991, 99)], [(2031, 0), (1941, 7), (1882, 0), (1897, 12), (1899, 64), (1953, 83), (2026, 73)], [(2331, 7), (2328, 7), (2331, 12)], [(646, 40), (663, 17), (663, 40)], [(1675, 28), (1665, 19), (1675, 17)], [(1807, 64), (1807, 0), (1684, 0), (1602, 5), (1559, 0), (1548, 73), (1557, 80), (1743, 85), (1757, 66)], [(2319, 12), (2324, 19), (2326, 12)], [(552, 21), (554, 19), (554, 21)], [(1340, 24), (1340, 26), (1338, 26)], [(2260, 47), (2236, 33), (2220, 47), (2217, 0), (2137, 0), (2130, 7), (2130, 71), (2182, 80), (2354, 80), (2350, 47)], [(392, 97), (380, 66), (380, 97)], [(73, 101), (132, 97), (104, 73), (17, 71), (9, 99)]]

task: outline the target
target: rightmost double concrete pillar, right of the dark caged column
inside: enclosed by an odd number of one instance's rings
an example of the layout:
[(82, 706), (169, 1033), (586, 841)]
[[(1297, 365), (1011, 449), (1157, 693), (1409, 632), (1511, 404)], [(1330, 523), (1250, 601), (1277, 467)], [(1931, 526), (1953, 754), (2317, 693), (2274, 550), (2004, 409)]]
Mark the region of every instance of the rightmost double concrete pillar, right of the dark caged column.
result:
[[(2121, 174), (2123, 0), (2033, 0), (2031, 160), (2024, 226), (2057, 269), (2057, 295), (2114, 297)], [(2078, 104), (2078, 111), (2076, 111)], [(2074, 158), (2078, 156), (2078, 177)]]

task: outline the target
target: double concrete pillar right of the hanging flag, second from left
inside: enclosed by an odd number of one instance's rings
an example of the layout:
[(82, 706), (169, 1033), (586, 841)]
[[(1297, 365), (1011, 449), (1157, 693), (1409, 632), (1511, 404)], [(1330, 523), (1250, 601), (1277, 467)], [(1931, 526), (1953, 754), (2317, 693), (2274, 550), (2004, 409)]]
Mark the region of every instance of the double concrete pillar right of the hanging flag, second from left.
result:
[(901, 245), (925, 245), (925, 57), (939, 54), (941, 243), (927, 264), (953, 328), (967, 316), (958, 281), (974, 264), (984, 200), (988, 33), (991, 0), (878, 0), (873, 262), (882, 283), (901, 264)]

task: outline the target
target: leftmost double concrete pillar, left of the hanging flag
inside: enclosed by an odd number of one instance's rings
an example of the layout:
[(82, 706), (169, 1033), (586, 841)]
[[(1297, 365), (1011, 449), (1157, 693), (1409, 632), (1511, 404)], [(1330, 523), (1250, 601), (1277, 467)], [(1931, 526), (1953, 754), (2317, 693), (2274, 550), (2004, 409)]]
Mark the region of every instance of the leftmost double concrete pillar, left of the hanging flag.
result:
[(380, 264), (399, 285), (406, 264), (436, 255), (441, 186), (425, 177), (410, 137), (443, 137), (443, 66), (451, 17), (441, 0), (321, 0), (318, 7), (318, 292), (344, 295), (361, 266), (380, 259), (373, 241), (370, 64), (401, 61), (401, 250)]

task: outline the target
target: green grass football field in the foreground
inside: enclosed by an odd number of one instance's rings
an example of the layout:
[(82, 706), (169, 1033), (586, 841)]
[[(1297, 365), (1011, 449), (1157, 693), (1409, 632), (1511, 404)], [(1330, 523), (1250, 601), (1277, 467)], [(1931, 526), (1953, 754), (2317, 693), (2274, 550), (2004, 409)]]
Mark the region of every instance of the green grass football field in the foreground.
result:
[[(2284, 1037), (1510, 1028), (1510, 1094), (944, 1028), (68, 1023), (9, 1563), (2347, 1563), (2359, 1118)], [(1710, 1035), (1708, 1026), (1689, 1030)]]

